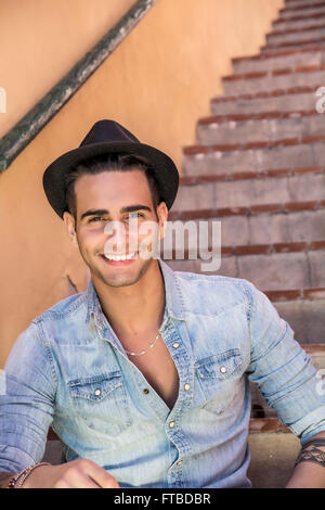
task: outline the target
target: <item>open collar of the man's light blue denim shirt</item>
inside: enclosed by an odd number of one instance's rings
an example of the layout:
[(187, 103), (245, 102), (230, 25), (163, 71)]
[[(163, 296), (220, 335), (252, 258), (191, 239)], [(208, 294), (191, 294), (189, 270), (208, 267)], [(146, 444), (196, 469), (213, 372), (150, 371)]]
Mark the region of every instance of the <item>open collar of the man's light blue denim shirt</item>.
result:
[[(160, 271), (164, 278), (164, 282), (165, 282), (166, 306), (165, 306), (165, 314), (164, 314), (164, 322), (165, 320), (168, 320), (169, 317), (176, 320), (185, 320), (182, 292), (180, 289), (179, 281), (174, 275), (174, 271), (165, 262), (160, 259), (158, 259), (158, 264), (159, 264)], [(99, 301), (92, 279), (90, 279), (90, 283), (88, 285), (86, 296), (87, 296), (86, 322), (89, 322), (91, 316), (93, 316), (96, 326), (100, 329), (103, 329), (105, 326), (106, 319), (103, 314), (101, 303)]]

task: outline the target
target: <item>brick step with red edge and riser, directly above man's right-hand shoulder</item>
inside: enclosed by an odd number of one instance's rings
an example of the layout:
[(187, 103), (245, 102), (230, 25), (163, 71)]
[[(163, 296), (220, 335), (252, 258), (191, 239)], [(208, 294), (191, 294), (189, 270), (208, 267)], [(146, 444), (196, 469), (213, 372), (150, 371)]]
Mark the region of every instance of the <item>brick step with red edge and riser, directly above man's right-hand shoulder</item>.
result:
[[(214, 260), (211, 260), (211, 257), (210, 259), (199, 258), (204, 254), (207, 255), (204, 250), (196, 253), (198, 257), (196, 259), (168, 260), (165, 258), (165, 260), (177, 271), (244, 278), (262, 291), (323, 288), (325, 286), (325, 246), (322, 243), (318, 250), (312, 250), (312, 246), (317, 246), (316, 243), (292, 243), (295, 251), (291, 252), (276, 251), (275, 244), (221, 247), (219, 269), (216, 269), (218, 267), (217, 244), (213, 244)], [(285, 244), (287, 250), (290, 243)]]

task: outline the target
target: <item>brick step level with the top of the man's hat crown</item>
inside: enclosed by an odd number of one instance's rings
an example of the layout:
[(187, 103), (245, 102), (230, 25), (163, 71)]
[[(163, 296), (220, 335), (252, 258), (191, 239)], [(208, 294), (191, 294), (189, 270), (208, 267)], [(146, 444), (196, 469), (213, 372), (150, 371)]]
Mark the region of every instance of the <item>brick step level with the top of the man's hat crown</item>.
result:
[(325, 135), (324, 116), (315, 109), (298, 112), (212, 115), (200, 118), (196, 126), (199, 145), (275, 141), (291, 137)]

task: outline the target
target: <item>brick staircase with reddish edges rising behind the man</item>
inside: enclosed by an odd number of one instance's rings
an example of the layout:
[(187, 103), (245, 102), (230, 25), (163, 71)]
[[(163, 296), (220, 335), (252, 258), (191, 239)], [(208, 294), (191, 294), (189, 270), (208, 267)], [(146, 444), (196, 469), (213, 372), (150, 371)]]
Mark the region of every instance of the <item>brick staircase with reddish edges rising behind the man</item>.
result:
[[(325, 113), (315, 107), (325, 1), (287, 0), (260, 53), (232, 63), (224, 94), (211, 99), (195, 145), (183, 150), (169, 219), (220, 220), (221, 267), (207, 273), (255, 283), (325, 368)], [(200, 259), (166, 262), (202, 272)], [(251, 390), (249, 474), (256, 487), (281, 487), (300, 444)]]

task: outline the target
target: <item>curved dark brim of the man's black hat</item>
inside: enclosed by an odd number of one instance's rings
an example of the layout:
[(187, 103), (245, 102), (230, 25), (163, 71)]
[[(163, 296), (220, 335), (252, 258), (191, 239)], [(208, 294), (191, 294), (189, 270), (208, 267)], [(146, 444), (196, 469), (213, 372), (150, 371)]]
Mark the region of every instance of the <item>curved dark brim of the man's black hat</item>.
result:
[(157, 179), (160, 200), (166, 202), (168, 209), (170, 209), (178, 192), (179, 171), (167, 154), (140, 142), (99, 142), (66, 152), (46, 169), (43, 189), (48, 201), (61, 218), (63, 218), (63, 213), (67, 211), (65, 176), (79, 163), (110, 153), (145, 156), (150, 161)]

